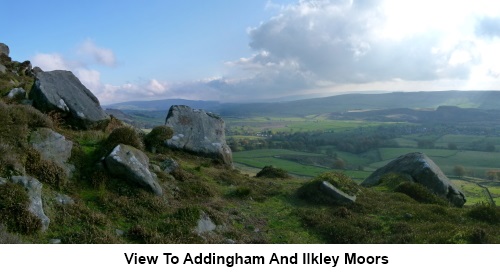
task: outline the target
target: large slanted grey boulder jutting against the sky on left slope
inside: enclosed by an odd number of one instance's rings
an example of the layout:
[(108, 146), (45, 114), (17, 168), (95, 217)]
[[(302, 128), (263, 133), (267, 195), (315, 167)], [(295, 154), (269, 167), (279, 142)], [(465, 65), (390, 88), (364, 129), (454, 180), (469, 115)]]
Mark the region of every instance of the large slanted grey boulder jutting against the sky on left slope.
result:
[(61, 112), (70, 124), (80, 128), (90, 128), (109, 119), (99, 100), (71, 71), (36, 73), (29, 96), (35, 108)]

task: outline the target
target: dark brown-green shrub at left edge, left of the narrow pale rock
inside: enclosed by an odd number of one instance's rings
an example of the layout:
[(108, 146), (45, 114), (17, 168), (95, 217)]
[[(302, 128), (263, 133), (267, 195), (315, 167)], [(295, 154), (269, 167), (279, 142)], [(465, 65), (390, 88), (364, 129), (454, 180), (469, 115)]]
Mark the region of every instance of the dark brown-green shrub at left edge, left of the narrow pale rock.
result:
[(0, 220), (10, 231), (32, 234), (41, 229), (42, 222), (28, 211), (29, 204), (28, 194), (21, 185), (0, 186)]

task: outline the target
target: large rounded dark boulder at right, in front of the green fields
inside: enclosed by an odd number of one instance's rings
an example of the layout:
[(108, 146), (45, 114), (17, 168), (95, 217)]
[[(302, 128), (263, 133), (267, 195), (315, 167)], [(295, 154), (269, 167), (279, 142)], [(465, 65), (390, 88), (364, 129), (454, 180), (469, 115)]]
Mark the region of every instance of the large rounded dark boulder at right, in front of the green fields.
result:
[(420, 152), (408, 153), (377, 169), (361, 185), (376, 186), (388, 173), (401, 174), (412, 182), (425, 186), (434, 194), (448, 199), (455, 206), (465, 204), (464, 194), (444, 175), (441, 169), (427, 155)]

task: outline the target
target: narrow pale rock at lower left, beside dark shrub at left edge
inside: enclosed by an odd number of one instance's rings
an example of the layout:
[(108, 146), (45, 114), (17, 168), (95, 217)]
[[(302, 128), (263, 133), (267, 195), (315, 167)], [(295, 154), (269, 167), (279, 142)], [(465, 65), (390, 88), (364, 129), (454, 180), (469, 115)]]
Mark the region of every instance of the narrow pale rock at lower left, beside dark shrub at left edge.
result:
[(37, 179), (27, 176), (12, 176), (10, 180), (15, 184), (20, 184), (28, 193), (30, 205), (28, 210), (42, 222), (42, 231), (49, 227), (50, 219), (43, 212), (42, 204), (42, 183)]

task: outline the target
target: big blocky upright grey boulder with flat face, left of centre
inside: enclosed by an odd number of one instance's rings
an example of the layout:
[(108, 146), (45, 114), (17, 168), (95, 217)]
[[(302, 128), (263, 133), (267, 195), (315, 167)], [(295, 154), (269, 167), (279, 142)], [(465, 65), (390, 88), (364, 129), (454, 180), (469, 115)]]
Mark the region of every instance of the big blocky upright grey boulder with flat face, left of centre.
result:
[(188, 106), (172, 106), (165, 125), (174, 130), (174, 136), (166, 141), (169, 147), (214, 157), (226, 165), (232, 165), (224, 120), (219, 116)]

